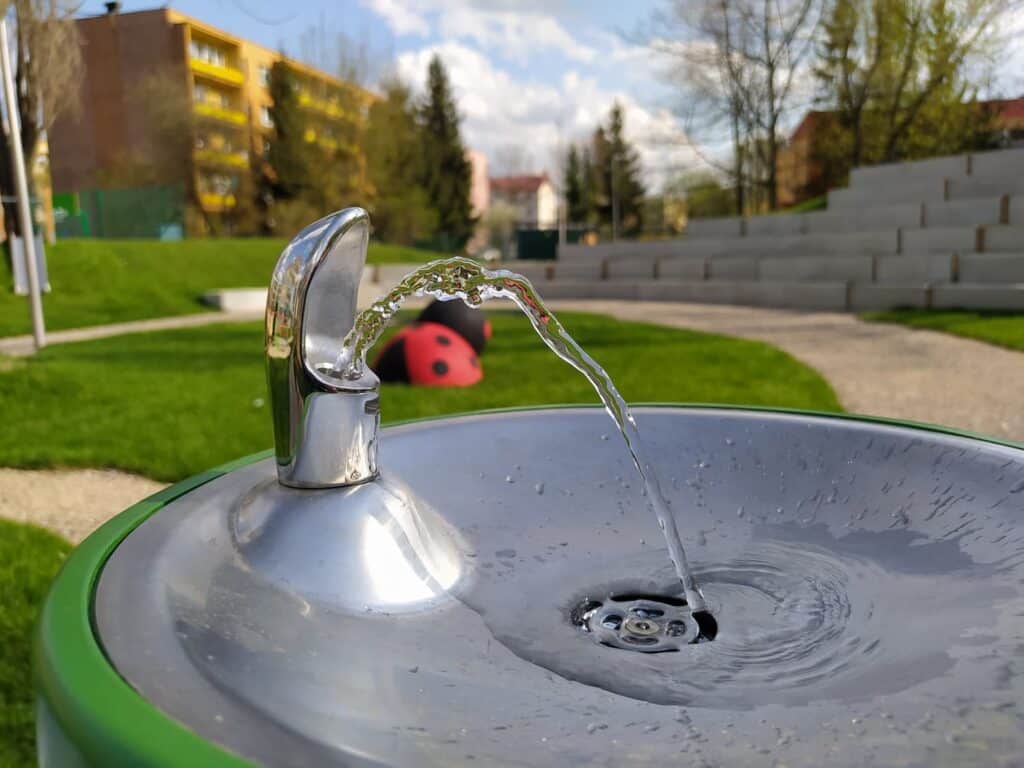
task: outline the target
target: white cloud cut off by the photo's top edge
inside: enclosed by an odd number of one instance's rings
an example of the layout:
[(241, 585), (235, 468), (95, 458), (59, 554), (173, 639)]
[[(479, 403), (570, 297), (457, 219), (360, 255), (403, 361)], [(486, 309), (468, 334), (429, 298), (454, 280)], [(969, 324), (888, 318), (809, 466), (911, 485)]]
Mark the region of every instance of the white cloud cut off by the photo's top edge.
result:
[(431, 30), (451, 40), (473, 42), (525, 61), (538, 51), (556, 51), (577, 61), (597, 51), (574, 38), (550, 13), (551, 3), (487, 0), (361, 0), (396, 35), (427, 37)]

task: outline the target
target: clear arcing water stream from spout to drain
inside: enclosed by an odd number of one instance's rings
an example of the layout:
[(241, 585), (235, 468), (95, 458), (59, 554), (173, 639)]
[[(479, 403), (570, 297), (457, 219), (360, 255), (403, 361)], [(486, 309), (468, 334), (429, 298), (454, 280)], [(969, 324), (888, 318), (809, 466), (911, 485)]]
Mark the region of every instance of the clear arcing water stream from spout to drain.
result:
[[(683, 542), (675, 516), (662, 492), (654, 467), (647, 459), (636, 421), (629, 406), (607, 372), (577, 344), (558, 318), (548, 309), (521, 274), (506, 269), (485, 269), (472, 259), (454, 257), (431, 261), (407, 274), (398, 285), (378, 299), (355, 318), (352, 330), (342, 343), (335, 369), (346, 379), (358, 379), (367, 365), (367, 352), (380, 339), (395, 312), (411, 296), (432, 296), (442, 301), (461, 299), (479, 307), (489, 299), (511, 299), (529, 318), (544, 343), (565, 362), (579, 371), (597, 392), (608, 416), (615, 422), (633, 463), (643, 480), (646, 498), (665, 536), (669, 557), (682, 583), (683, 592), (694, 612), (705, 611), (705, 601), (690, 573)], [(705, 621), (713, 621), (708, 616)]]

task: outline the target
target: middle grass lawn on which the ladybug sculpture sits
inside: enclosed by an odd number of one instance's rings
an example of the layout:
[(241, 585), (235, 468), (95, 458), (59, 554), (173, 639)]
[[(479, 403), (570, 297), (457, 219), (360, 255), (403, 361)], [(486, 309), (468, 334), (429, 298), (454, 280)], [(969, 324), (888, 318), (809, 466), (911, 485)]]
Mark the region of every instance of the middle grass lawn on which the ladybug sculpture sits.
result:
[[(767, 344), (597, 315), (563, 319), (632, 401), (839, 410), (817, 373)], [(493, 323), (483, 382), (385, 386), (385, 421), (597, 401), (524, 317), (496, 312)], [(271, 444), (260, 324), (57, 345), (0, 370), (0, 466), (118, 467), (170, 481)]]

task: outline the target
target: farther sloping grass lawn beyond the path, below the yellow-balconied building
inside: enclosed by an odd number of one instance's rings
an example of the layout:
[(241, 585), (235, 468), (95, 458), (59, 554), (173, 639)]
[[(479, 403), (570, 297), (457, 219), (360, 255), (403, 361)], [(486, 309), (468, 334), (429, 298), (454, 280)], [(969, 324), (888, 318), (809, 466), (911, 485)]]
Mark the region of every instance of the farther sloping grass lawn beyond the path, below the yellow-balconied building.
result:
[[(66, 240), (47, 249), (51, 294), (43, 297), (46, 327), (58, 331), (105, 323), (209, 311), (199, 303), (218, 288), (266, 286), (284, 240), (238, 238), (159, 241)], [(422, 262), (443, 254), (370, 245), (370, 263)], [(0, 259), (0, 336), (32, 330), (28, 299), (11, 292)]]

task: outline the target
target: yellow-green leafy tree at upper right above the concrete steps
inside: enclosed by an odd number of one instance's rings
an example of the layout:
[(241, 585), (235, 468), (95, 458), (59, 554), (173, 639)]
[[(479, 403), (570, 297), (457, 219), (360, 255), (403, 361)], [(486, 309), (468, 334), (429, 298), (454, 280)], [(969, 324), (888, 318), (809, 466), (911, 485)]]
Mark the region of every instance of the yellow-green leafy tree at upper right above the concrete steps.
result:
[(978, 148), (991, 116), (973, 67), (1008, 0), (829, 0), (815, 76), (835, 116), (818, 161), (843, 176), (866, 163)]

